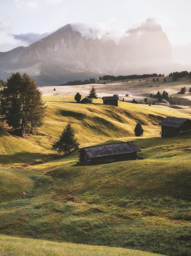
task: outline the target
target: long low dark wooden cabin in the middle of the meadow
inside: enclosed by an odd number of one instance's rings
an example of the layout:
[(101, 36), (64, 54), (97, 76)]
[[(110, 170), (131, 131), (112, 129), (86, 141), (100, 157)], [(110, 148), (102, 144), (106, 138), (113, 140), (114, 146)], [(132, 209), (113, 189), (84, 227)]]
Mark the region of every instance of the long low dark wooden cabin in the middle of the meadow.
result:
[(79, 150), (79, 160), (80, 163), (84, 165), (97, 165), (135, 160), (137, 158), (137, 152), (140, 151), (141, 150), (134, 141), (84, 147)]

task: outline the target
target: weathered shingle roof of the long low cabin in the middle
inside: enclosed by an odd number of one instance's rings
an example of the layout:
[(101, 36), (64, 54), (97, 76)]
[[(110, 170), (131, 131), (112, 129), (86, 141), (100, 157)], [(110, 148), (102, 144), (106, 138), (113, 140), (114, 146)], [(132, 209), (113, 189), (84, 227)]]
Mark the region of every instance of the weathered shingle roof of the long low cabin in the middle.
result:
[[(134, 141), (127, 141), (116, 144), (105, 144), (100, 146), (84, 147), (81, 150), (85, 150), (90, 158), (100, 156), (113, 156), (118, 154), (135, 153), (141, 150), (135, 144)], [(79, 150), (79, 152), (81, 151)]]

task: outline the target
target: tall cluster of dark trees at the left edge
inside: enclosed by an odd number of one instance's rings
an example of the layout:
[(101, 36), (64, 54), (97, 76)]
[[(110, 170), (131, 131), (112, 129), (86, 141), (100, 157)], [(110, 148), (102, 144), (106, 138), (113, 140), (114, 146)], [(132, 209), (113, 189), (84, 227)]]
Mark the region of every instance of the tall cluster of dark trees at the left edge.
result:
[(23, 136), (25, 129), (42, 124), (45, 109), (42, 93), (35, 81), (26, 73), (17, 72), (7, 79), (7, 87), (0, 91), (0, 116), (18, 135)]

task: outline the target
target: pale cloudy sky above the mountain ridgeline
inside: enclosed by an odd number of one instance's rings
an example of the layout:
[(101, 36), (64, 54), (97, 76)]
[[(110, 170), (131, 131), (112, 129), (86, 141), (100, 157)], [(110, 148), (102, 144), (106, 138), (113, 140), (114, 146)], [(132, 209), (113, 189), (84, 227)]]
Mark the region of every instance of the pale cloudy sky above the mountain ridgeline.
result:
[(148, 18), (172, 46), (191, 49), (190, 0), (0, 0), (0, 52), (28, 46), (68, 23), (85, 23), (98, 36), (122, 34)]

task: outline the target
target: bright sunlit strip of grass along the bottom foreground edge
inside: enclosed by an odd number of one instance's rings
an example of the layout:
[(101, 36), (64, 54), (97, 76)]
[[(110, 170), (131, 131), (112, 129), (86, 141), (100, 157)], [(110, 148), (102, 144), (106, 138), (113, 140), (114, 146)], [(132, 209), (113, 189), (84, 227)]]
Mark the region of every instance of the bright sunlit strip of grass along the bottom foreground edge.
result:
[(1, 255), (26, 256), (26, 255), (68, 255), (68, 256), (154, 256), (150, 252), (111, 248), (106, 246), (87, 246), (74, 243), (55, 243), (45, 240), (26, 239), (0, 235)]

